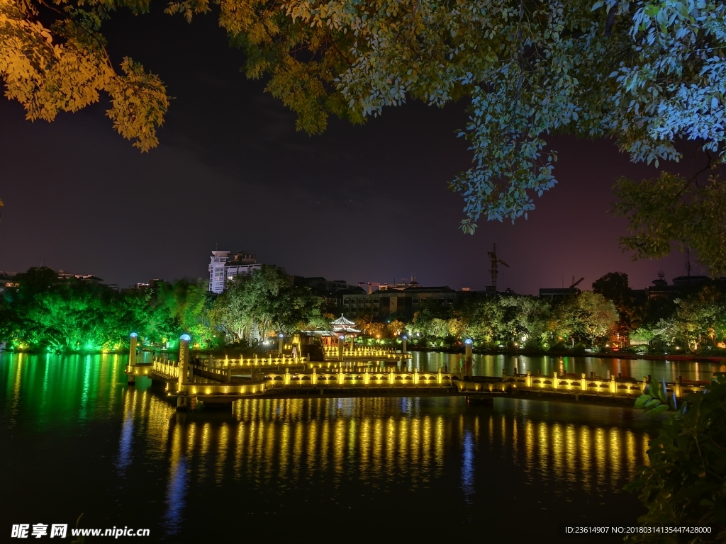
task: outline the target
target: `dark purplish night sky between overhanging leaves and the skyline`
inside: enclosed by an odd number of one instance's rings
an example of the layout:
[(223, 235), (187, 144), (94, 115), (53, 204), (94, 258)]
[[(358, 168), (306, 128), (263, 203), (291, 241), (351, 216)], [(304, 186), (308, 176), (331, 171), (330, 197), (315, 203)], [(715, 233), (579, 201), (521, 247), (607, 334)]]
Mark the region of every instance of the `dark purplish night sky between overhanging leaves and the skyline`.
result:
[[(391, 282), (415, 273), (424, 286), (484, 289), (486, 252), (497, 244), (499, 287), (580, 287), (610, 271), (643, 288), (658, 270), (685, 273), (677, 250), (632, 263), (622, 219), (607, 213), (617, 176), (657, 176), (612, 141), (550, 136), (560, 182), (515, 225), (458, 229), (460, 196), (447, 189), (470, 166), (456, 137), (465, 103), (411, 102), (363, 126), (331, 118), (322, 136), (295, 132), (295, 115), (240, 73), (214, 15), (191, 25), (161, 13), (115, 15), (105, 24), (116, 62), (129, 55), (158, 73), (175, 99), (160, 146), (141, 154), (113, 131), (107, 104), (53, 123), (30, 123), (0, 99), (0, 271), (46, 265), (94, 273), (127, 287), (152, 278), (207, 276), (210, 251), (248, 250), (300, 276)], [(547, 138), (545, 138), (547, 139)], [(693, 173), (688, 153), (667, 168)], [(693, 273), (701, 273), (696, 267)]]

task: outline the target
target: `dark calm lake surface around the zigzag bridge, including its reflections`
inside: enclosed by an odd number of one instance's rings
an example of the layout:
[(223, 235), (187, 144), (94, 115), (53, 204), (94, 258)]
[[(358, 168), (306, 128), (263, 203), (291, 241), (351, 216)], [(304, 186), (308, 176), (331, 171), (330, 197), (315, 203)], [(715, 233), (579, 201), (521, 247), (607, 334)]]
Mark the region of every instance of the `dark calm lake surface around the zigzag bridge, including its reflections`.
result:
[[(436, 353), (412, 360), (419, 368), (457, 362)], [(80, 527), (149, 528), (146, 542), (556, 542), (559, 522), (634, 522), (642, 512), (621, 489), (645, 462), (658, 423), (631, 409), (411, 397), (245, 400), (232, 413), (176, 413), (147, 379), (127, 387), (125, 363), (0, 353), (6, 537), (11, 524), (73, 527), (83, 513)], [(496, 376), (502, 364), (666, 379), (720, 369), (482, 356), (475, 372)]]

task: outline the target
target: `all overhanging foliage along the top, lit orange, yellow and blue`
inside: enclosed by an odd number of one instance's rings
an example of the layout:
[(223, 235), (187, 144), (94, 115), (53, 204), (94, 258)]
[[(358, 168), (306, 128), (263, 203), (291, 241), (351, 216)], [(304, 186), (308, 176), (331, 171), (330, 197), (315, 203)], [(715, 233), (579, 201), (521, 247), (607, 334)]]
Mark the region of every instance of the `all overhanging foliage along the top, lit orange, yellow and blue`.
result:
[[(247, 54), (250, 78), (318, 133), (330, 114), (354, 123), (408, 99), (466, 97), (473, 168), (451, 182), (462, 229), (515, 219), (551, 189), (552, 131), (605, 136), (633, 160), (675, 159), (678, 138), (723, 157), (726, 7), (719, 0), (217, 0), (219, 22)], [(0, 73), (29, 118), (52, 119), (112, 96), (109, 115), (142, 149), (166, 111), (158, 78), (124, 61), (117, 75), (99, 21), (148, 0), (0, 0)], [(191, 20), (209, 0), (171, 1)], [(706, 258), (702, 256), (702, 258)]]

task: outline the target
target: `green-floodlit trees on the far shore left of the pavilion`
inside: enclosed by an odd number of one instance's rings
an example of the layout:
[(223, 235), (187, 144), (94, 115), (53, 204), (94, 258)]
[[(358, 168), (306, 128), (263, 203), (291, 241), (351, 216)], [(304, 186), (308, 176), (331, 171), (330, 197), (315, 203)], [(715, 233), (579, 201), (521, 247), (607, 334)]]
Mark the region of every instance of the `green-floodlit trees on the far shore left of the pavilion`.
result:
[(325, 326), (321, 301), (307, 288), (290, 287), (285, 273), (272, 266), (240, 276), (219, 297), (204, 281), (160, 282), (156, 289), (121, 293), (58, 279), (50, 268), (30, 268), (14, 283), (20, 287), (0, 298), (0, 342), (24, 350), (121, 350), (132, 331), (142, 347), (174, 348), (181, 334), (190, 334), (192, 347), (209, 349)]

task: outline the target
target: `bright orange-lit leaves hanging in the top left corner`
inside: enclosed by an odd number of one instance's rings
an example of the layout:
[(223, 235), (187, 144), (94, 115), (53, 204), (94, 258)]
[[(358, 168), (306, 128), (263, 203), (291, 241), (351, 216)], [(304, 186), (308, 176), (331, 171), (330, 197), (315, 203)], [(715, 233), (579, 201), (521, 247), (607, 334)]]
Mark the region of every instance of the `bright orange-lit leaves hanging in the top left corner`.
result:
[[(101, 20), (116, 7), (135, 13), (148, 2), (0, 0), (0, 76), (5, 96), (25, 107), (29, 120), (52, 121), (110, 97), (113, 128), (142, 151), (156, 147), (168, 97), (160, 79), (126, 57), (118, 73), (105, 49)], [(51, 26), (39, 20), (54, 17)], [(51, 15), (52, 14), (52, 15)]]

